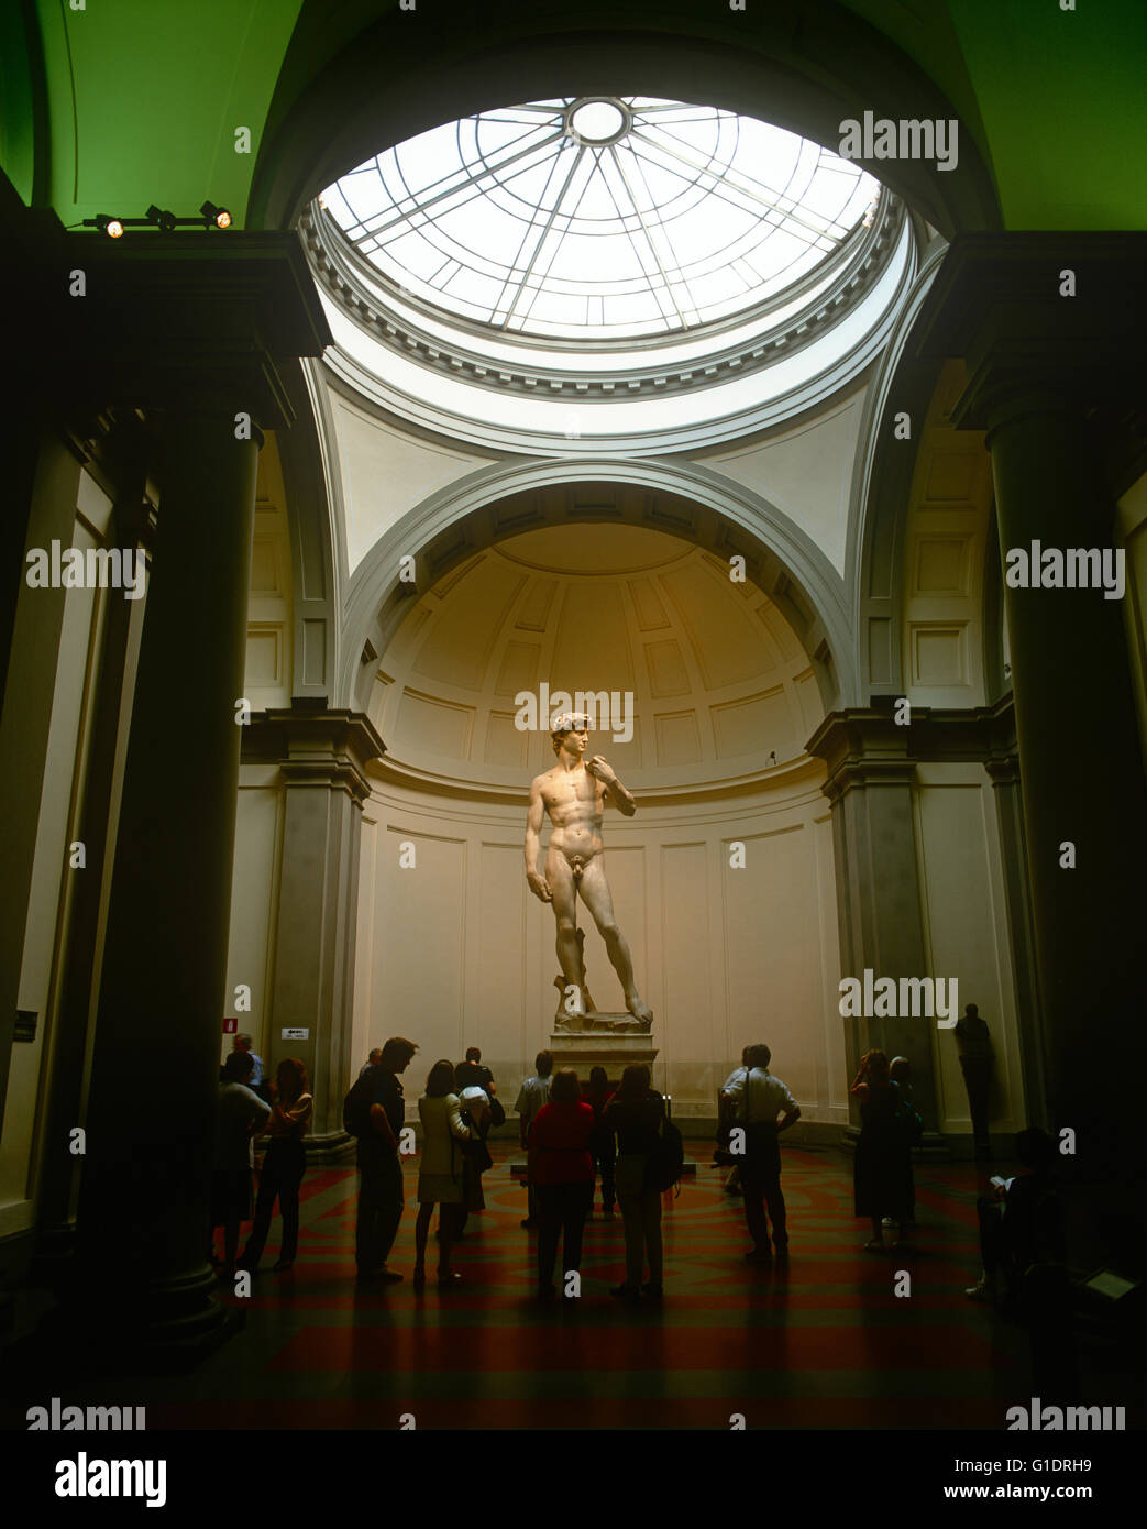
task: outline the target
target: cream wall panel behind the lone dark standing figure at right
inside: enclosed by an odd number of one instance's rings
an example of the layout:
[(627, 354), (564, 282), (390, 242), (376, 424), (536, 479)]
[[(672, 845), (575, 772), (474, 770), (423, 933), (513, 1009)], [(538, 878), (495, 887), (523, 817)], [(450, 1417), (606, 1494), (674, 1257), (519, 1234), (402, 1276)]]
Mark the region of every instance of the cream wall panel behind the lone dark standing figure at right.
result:
[[(980, 764), (921, 764), (918, 781), (916, 844), (928, 971), (956, 977), (960, 1012), (967, 1003), (979, 1005), (996, 1052), (991, 1128), (1019, 1131), (1028, 1122), (994, 786)], [(939, 1128), (970, 1135), (956, 1037), (931, 1023), (931, 1044)]]

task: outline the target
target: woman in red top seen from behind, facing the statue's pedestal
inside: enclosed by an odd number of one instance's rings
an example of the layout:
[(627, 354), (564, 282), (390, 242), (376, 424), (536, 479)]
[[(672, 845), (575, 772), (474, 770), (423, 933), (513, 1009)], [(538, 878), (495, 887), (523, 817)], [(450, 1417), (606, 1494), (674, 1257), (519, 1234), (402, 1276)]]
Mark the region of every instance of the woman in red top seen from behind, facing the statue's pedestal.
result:
[[(578, 1075), (563, 1067), (549, 1090), (549, 1104), (529, 1131), (531, 1177), (538, 1194), (538, 1300), (554, 1300), (558, 1237), (564, 1272), (581, 1266), (581, 1234), (593, 1199), (593, 1110), (581, 1102)], [(564, 1289), (563, 1297), (570, 1298)]]

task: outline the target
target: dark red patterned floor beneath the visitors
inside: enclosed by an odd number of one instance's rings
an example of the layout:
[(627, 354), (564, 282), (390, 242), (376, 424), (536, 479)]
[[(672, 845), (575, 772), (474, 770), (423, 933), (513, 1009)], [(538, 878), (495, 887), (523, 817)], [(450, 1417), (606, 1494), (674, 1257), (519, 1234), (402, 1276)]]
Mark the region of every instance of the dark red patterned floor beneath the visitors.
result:
[(407, 1413), (419, 1430), (728, 1428), (734, 1413), (751, 1428), (1000, 1428), (1026, 1394), (1023, 1336), (962, 1294), (979, 1266), (971, 1165), (918, 1171), (918, 1248), (885, 1257), (863, 1252), (849, 1159), (786, 1150), (792, 1257), (769, 1269), (743, 1263), (740, 1200), (702, 1161), (665, 1199), (661, 1307), (609, 1295), (624, 1243), (598, 1217), (581, 1300), (540, 1309), (512, 1156), (496, 1147), (448, 1292), (410, 1284), (413, 1161), (390, 1260), (407, 1280), (362, 1292), (355, 1173), (307, 1174), (294, 1271), (271, 1272), (269, 1242), (252, 1297), (229, 1298), (245, 1332), (191, 1376), (148, 1381), (148, 1428), (396, 1428)]

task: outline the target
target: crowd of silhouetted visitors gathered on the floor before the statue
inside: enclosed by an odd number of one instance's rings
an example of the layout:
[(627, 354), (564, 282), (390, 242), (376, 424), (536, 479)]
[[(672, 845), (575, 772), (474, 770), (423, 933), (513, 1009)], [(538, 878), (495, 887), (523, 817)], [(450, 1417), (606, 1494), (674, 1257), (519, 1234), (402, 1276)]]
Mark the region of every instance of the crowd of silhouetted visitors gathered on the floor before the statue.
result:
[[(392, 1037), (370, 1052), (344, 1105), (344, 1124), (356, 1138), (359, 1170), (355, 1260), (362, 1284), (398, 1283), (402, 1275), (387, 1260), (404, 1211), (402, 1133), (405, 1096), (401, 1075), (418, 1052), (404, 1037)], [(781, 1191), (780, 1136), (800, 1119), (800, 1105), (788, 1086), (771, 1070), (765, 1044), (746, 1046), (742, 1066), (725, 1079), (719, 1095), (719, 1150), (714, 1162), (733, 1167), (736, 1182), (726, 1185), (743, 1196), (751, 1248), (749, 1263), (783, 1261), (789, 1235)], [(211, 1261), (225, 1274), (254, 1274), (263, 1254), (271, 1217), (278, 1199), (283, 1240), (274, 1264), (291, 1269), (298, 1249), (298, 1191), (304, 1171), (303, 1138), (314, 1099), (304, 1064), (284, 1058), (265, 1098), (254, 1089), (262, 1060), (251, 1037), (237, 1035), (222, 1069), (216, 1119), (213, 1176), (213, 1226), (223, 1228), (223, 1260), (211, 1246)], [(852, 1083), (859, 1104), (861, 1130), (853, 1164), (855, 1212), (870, 1223), (866, 1251), (904, 1246), (915, 1229), (913, 1147), (922, 1138), (922, 1121), (911, 1099), (908, 1061), (873, 1049), (864, 1053)], [(456, 1243), (463, 1237), (471, 1211), (485, 1208), (482, 1174), (491, 1167), (486, 1135), (505, 1122), (497, 1086), (482, 1052), (470, 1047), (465, 1061), (442, 1060), (427, 1076), (418, 1102), (422, 1147), (414, 1222), (414, 1275), (427, 1283), (427, 1245), (434, 1206), (439, 1206), (436, 1278), (447, 1289), (459, 1283), (453, 1268)], [(601, 1182), (601, 1209), (621, 1211), (625, 1242), (625, 1275), (612, 1294), (636, 1301), (661, 1300), (664, 1260), (661, 1237), (662, 1188), (651, 1182), (650, 1165), (664, 1136), (665, 1101), (650, 1084), (650, 1070), (625, 1067), (616, 1090), (604, 1067), (592, 1067), (583, 1086), (570, 1067), (554, 1072), (549, 1050), (538, 1052), (535, 1072), (518, 1092), (515, 1109), (523, 1151), (528, 1153), (528, 1216), (525, 1228), (537, 1229), (537, 1295), (558, 1297), (554, 1271), (561, 1246), (561, 1297), (580, 1294), (584, 1226), (592, 1214), (595, 1183)], [(269, 1138), (254, 1203), (254, 1225), (242, 1257), (237, 1255), (240, 1223), (252, 1217), (254, 1139)], [(993, 1180), (993, 1194), (982, 1199), (980, 1240), (983, 1274), (968, 1289), (974, 1300), (991, 1300), (1014, 1284), (1032, 1249), (1054, 1245), (1055, 1200), (1049, 1174), (1052, 1151), (1041, 1131), (1017, 1138), (1026, 1176)], [(771, 1223), (771, 1232), (769, 1232)], [(1051, 1228), (1051, 1229), (1049, 1229)]]

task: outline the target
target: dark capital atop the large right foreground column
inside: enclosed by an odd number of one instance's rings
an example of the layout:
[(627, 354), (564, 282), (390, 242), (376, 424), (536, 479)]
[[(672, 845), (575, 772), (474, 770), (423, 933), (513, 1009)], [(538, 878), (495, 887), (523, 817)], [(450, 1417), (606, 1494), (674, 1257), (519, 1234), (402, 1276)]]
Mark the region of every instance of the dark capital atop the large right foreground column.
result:
[(997, 430), (1032, 411), (1083, 417), (1097, 407), (1142, 407), (1144, 272), (1141, 232), (959, 235), (915, 336), (918, 356), (968, 364), (956, 428)]

